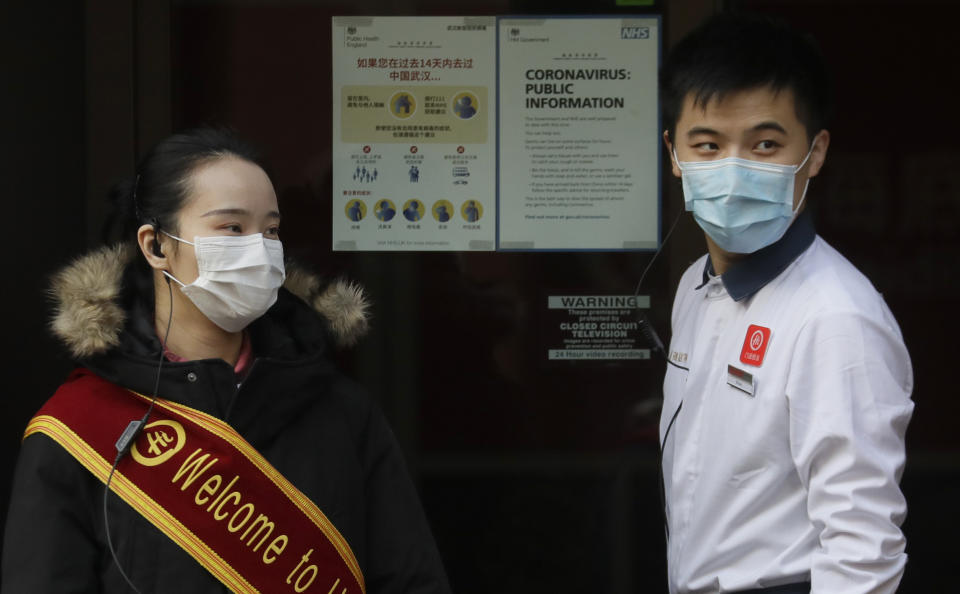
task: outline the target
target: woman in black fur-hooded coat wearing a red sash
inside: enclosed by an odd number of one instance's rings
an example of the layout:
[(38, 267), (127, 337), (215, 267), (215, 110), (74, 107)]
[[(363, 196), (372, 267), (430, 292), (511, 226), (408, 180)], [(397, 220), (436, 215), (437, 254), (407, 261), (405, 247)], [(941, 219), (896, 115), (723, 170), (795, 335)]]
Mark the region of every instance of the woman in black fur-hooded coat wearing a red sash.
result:
[(222, 130), (164, 140), (120, 192), (134, 245), (55, 277), (81, 369), (27, 430), (4, 592), (449, 591), (390, 429), (330, 362), (366, 304), (285, 270), (258, 163)]

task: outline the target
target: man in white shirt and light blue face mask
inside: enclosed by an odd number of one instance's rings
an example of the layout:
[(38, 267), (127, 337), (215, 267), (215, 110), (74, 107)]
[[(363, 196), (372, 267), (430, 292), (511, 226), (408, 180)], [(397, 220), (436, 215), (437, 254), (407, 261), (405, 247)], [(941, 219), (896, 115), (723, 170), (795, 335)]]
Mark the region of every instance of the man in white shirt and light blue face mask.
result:
[(664, 380), (670, 591), (894, 592), (913, 374), (882, 297), (805, 210), (830, 144), (822, 59), (724, 14), (661, 89), (708, 251), (680, 281)]

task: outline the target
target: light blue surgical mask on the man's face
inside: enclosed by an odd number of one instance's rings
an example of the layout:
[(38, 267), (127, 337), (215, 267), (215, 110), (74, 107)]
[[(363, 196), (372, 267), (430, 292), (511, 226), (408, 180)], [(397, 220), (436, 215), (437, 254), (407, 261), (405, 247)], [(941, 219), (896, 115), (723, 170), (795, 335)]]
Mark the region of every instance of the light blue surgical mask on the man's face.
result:
[(751, 254), (786, 233), (807, 197), (807, 186), (793, 208), (794, 178), (813, 154), (799, 165), (780, 165), (727, 157), (714, 161), (673, 158), (683, 181), (684, 204), (717, 246), (735, 254)]

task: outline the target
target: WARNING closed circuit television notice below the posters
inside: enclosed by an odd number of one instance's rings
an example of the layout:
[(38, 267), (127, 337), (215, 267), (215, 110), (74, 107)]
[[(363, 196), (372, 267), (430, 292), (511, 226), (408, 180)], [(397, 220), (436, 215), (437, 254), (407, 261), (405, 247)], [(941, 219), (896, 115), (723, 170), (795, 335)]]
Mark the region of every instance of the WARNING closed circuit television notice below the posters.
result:
[(548, 319), (554, 337), (547, 358), (553, 361), (649, 359), (637, 310), (650, 307), (645, 295), (551, 295)]

